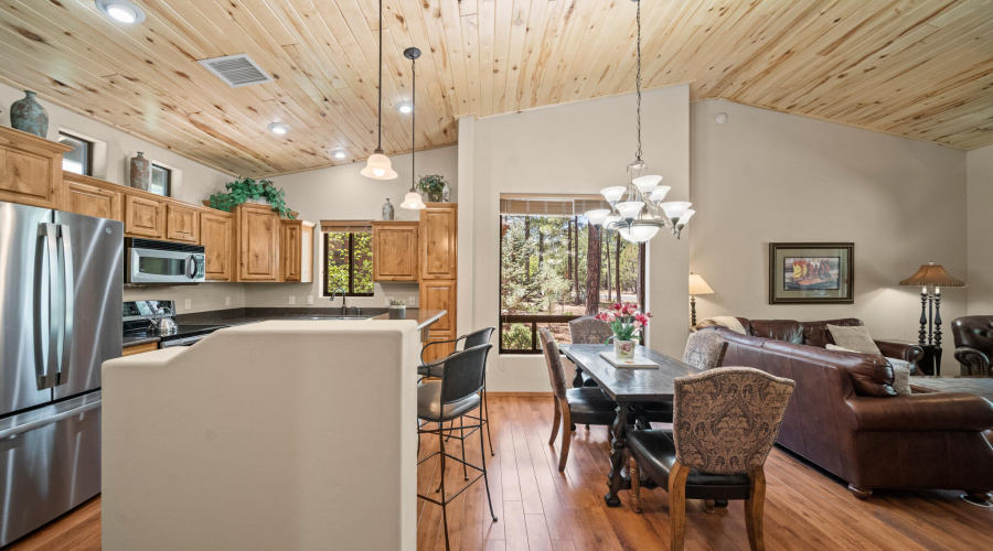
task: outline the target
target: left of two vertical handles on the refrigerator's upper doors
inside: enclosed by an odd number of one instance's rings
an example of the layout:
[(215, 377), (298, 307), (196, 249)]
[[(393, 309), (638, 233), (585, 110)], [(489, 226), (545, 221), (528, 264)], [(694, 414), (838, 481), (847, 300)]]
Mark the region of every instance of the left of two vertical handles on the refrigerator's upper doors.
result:
[[(39, 246), (35, 255), (36, 284), (34, 288), (34, 335), (35, 348), (35, 375), (38, 389), (51, 388), (57, 377), (55, 370), (56, 355), (58, 352), (58, 332), (55, 327), (52, 310), (55, 304), (54, 294), (58, 285), (57, 238), (58, 231), (54, 224), (42, 223), (38, 226)], [(47, 273), (44, 273), (45, 259), (47, 258)], [(47, 303), (49, 311), (42, 311)], [(47, 315), (43, 315), (47, 314)], [(49, 326), (42, 326), (42, 320), (47, 318)]]

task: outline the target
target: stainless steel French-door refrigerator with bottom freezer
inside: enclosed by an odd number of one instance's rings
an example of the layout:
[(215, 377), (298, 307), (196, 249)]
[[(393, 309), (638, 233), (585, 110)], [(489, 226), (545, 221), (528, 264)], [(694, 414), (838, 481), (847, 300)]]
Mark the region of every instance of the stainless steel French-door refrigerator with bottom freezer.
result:
[(0, 545), (100, 491), (124, 225), (0, 203)]

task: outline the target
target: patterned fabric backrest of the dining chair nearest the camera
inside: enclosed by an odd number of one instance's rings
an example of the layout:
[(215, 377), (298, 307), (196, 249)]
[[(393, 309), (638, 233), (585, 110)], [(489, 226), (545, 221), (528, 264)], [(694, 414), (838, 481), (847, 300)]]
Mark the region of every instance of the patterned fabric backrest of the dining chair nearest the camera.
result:
[(762, 466), (794, 386), (750, 367), (720, 367), (676, 379), (676, 460), (711, 474)]

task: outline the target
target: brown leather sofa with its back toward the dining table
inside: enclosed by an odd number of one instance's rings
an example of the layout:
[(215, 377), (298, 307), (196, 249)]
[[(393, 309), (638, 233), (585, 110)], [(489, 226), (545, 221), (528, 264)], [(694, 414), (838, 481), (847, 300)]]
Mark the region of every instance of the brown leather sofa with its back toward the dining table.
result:
[(750, 321), (743, 323), (749, 335), (716, 328), (728, 342), (725, 366), (797, 381), (777, 442), (846, 480), (859, 499), (873, 488), (961, 489), (985, 499), (993, 403), (958, 392), (895, 396), (882, 356), (803, 344), (824, 342), (821, 324)]

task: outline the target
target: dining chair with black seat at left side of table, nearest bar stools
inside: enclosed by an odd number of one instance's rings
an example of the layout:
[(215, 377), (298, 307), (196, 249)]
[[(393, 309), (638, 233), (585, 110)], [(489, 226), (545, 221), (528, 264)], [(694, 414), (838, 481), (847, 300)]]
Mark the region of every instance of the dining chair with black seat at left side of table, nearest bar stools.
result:
[(565, 471), (566, 461), (569, 458), (573, 424), (610, 425), (617, 417), (617, 402), (605, 395), (599, 387), (566, 388), (562, 353), (558, 352), (555, 337), (544, 327), (538, 328), (538, 337), (542, 339), (542, 353), (545, 355), (545, 364), (548, 366), (548, 379), (552, 382), (555, 404), (555, 418), (552, 421), (552, 437), (548, 439), (548, 445), (555, 443), (558, 425), (562, 424), (558, 471)]

